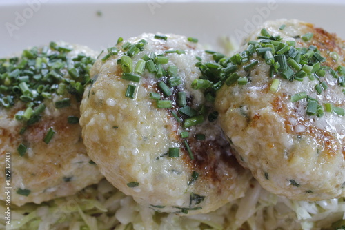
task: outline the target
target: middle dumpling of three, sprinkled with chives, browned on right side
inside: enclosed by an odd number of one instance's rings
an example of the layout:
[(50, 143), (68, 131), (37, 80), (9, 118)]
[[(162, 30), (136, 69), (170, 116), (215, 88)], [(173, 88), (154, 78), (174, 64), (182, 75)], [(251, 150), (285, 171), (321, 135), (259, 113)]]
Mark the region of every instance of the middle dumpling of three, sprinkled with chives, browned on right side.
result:
[[(195, 39), (144, 34), (119, 39), (91, 70), (81, 103), (91, 159), (120, 191), (156, 211), (213, 211), (244, 195), (251, 176), (214, 122), (199, 90)], [(199, 80), (198, 80), (199, 79)]]

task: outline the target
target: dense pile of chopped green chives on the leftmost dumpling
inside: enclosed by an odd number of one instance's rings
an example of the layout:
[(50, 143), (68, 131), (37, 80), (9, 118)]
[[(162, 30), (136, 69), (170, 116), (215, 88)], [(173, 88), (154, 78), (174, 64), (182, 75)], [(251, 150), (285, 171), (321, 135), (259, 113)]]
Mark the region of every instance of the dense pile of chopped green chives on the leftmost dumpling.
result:
[(95, 60), (83, 53), (70, 57), (71, 51), (70, 46), (51, 42), (24, 50), (20, 57), (0, 59), (0, 106), (10, 108), (23, 102), (15, 119), (30, 126), (41, 119), (46, 108), (43, 102), (52, 95), (66, 97), (55, 102), (56, 108), (69, 106), (71, 96), (79, 102)]

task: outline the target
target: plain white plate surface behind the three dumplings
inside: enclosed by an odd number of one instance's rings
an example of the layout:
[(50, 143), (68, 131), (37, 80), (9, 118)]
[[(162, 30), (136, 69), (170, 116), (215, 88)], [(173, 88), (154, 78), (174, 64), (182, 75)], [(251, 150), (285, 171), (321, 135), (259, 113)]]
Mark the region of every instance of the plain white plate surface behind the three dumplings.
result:
[(59, 40), (102, 50), (115, 44), (118, 37), (126, 39), (142, 32), (197, 37), (200, 42), (215, 46), (221, 36), (232, 36), (239, 41), (253, 26), (279, 18), (308, 21), (345, 38), (344, 2), (70, 2), (17, 0), (0, 3), (0, 57), (28, 46)]

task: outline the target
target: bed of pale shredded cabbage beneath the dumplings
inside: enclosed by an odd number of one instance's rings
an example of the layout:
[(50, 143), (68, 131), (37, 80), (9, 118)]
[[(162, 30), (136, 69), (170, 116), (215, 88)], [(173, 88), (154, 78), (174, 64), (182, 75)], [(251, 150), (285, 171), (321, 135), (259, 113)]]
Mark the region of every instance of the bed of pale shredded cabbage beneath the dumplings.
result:
[(76, 195), (42, 204), (11, 206), (6, 224), (0, 204), (0, 229), (345, 229), (344, 198), (296, 202), (268, 193), (253, 180), (244, 198), (217, 211), (181, 217), (141, 207), (106, 180)]

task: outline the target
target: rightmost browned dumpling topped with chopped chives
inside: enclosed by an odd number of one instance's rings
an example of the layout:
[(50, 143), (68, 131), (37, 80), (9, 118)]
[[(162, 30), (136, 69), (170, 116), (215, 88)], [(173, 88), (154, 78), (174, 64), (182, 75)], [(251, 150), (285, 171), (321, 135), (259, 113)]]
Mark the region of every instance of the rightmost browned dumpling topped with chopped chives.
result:
[(236, 72), (242, 82), (226, 82), (215, 102), (239, 162), (271, 193), (343, 196), (344, 41), (310, 23), (279, 20), (255, 30), (239, 53), (251, 48)]

